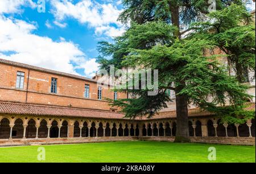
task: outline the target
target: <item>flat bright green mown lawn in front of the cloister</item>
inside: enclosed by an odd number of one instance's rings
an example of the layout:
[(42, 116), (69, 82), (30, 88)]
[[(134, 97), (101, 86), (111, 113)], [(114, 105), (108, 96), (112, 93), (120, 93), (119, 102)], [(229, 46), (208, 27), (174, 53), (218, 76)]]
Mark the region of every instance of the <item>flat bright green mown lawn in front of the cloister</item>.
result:
[[(40, 162), (38, 147), (0, 147), (0, 162)], [(215, 147), (215, 162), (255, 163), (255, 146), (134, 141), (43, 147), (45, 162), (212, 162), (208, 148)]]

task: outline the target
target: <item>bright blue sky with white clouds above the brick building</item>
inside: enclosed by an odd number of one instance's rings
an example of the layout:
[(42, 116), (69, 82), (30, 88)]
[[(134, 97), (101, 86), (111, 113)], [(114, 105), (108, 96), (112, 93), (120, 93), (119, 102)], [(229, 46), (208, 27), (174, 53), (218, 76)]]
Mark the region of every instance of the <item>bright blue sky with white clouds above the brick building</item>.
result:
[(97, 42), (125, 31), (121, 11), (120, 0), (0, 0), (0, 58), (92, 77)]

